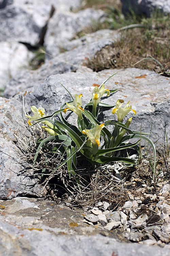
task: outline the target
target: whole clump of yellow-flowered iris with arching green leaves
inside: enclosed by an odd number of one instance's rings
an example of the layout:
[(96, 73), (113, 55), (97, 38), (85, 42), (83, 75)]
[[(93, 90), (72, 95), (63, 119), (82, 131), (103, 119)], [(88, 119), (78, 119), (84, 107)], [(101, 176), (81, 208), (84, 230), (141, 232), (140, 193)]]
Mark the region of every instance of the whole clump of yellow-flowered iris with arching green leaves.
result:
[[(139, 151), (141, 139), (146, 140), (153, 148), (153, 179), (155, 177), (156, 150), (153, 142), (146, 137), (148, 133), (131, 130), (129, 127), (132, 117), (123, 124), (123, 118), (129, 112), (136, 115), (136, 111), (132, 109), (130, 102), (125, 104), (124, 107), (124, 101), (121, 99), (118, 99), (115, 105), (101, 102), (101, 98), (105, 93), (109, 97), (110, 93), (117, 91), (105, 89), (104, 84), (108, 79), (100, 87), (96, 86), (94, 88), (90, 102), (84, 107), (81, 101), (83, 95), (75, 94), (75, 98), (73, 98), (70, 92), (63, 86), (68, 91), (71, 100), (62, 104), (60, 110), (46, 116), (44, 108), (37, 109), (35, 106), (32, 106), (31, 110), (34, 116), (26, 115), (29, 118), (28, 123), (30, 127), (38, 125), (40, 129), (43, 128), (47, 132), (44, 138), (41, 136), (36, 140), (37, 149), (33, 160), (33, 168), (38, 166), (37, 160), (41, 161), (41, 166), (43, 163), (40, 182), (43, 182), (44, 187), (48, 187), (53, 194), (56, 191), (55, 183), (57, 176), (58, 186), (63, 187), (62, 190), (71, 195), (77, 191), (77, 199), (75, 201), (81, 201), (84, 189), (87, 192), (88, 189), (86, 188), (94, 184), (92, 178), (94, 173), (97, 175), (95, 184), (97, 184), (98, 177), (105, 177), (105, 171), (100, 169), (100, 167), (109, 164), (114, 166), (116, 163), (121, 163), (123, 170), (136, 164), (137, 155), (135, 157), (127, 155), (125, 157), (124, 153), (121, 155), (118, 152), (127, 151), (130, 148)], [(113, 117), (116, 115), (117, 120), (106, 120), (101, 124), (98, 121), (101, 106), (112, 108)], [(65, 118), (67, 111), (77, 114), (77, 126), (68, 123)], [(61, 121), (50, 119), (57, 114), (60, 114)], [(36, 122), (33, 124), (32, 122), (34, 121)], [(38, 123), (42, 123), (43, 126), (40, 127)], [(112, 132), (110, 129), (107, 129), (109, 126), (115, 127)], [(34, 131), (36, 130), (34, 129)], [(47, 136), (47, 134), (50, 136)], [(137, 141), (131, 143), (131, 139), (137, 139)], [(122, 178), (118, 173), (117, 177), (112, 177), (112, 173), (108, 177), (107, 174), (107, 182), (110, 179), (117, 180), (117, 178), (121, 182)], [(59, 188), (57, 189), (58, 191), (60, 190)], [(94, 191), (95, 189), (93, 189), (93, 193)], [(115, 195), (115, 189), (112, 192)], [(63, 194), (65, 193), (63, 192)], [(100, 193), (95, 197), (99, 198)]]

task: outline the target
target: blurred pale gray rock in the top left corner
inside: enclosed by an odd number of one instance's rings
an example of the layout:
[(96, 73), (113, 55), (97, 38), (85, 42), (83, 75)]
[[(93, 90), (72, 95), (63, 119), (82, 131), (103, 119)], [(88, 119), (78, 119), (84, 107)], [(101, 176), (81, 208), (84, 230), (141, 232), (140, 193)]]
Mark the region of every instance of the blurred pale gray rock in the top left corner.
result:
[(0, 9), (0, 41), (36, 45), (44, 38), (52, 4), (49, 1), (14, 1)]

